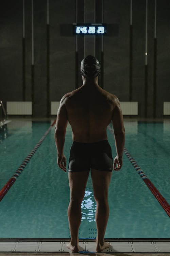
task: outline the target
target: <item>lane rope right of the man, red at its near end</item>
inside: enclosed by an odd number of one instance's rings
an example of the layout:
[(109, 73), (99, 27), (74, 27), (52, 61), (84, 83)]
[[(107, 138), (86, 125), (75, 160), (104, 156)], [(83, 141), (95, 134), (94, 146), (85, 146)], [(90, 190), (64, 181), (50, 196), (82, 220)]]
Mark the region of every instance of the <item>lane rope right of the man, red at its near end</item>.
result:
[[(109, 131), (111, 131), (112, 134), (114, 134), (114, 130), (108, 125)], [(132, 163), (135, 170), (138, 172), (142, 180), (145, 182), (145, 184), (148, 186), (148, 188), (151, 190), (154, 197), (157, 199), (157, 201), (160, 203), (164, 211), (167, 213), (167, 215), (170, 217), (170, 205), (166, 201), (166, 199), (160, 194), (160, 192), (157, 190), (157, 188), (153, 185), (153, 183), (148, 179), (145, 172), (138, 166), (134, 158), (131, 156), (129, 151), (124, 147), (124, 154), (128, 157), (129, 161)]]

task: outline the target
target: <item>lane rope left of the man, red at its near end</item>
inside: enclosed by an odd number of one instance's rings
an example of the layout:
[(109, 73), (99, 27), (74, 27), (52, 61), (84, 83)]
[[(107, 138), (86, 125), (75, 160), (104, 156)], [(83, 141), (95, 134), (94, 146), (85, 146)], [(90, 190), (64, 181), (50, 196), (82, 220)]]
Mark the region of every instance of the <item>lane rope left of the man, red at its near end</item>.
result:
[(54, 126), (56, 121), (54, 121), (51, 126), (49, 127), (49, 129), (45, 132), (45, 134), (43, 135), (43, 137), (38, 141), (38, 143), (35, 145), (35, 147), (33, 148), (33, 150), (30, 152), (30, 154), (26, 157), (26, 159), (21, 163), (20, 167), (17, 169), (17, 171), (14, 173), (14, 175), (11, 177), (10, 180), (8, 180), (8, 182), (3, 186), (3, 188), (0, 191), (0, 201), (4, 198), (4, 196), (6, 195), (6, 193), (8, 192), (8, 190), (12, 187), (12, 185), (14, 184), (14, 182), (16, 181), (16, 179), (19, 177), (19, 175), (22, 173), (23, 169), (26, 167), (26, 165), (28, 164), (28, 162), (30, 161), (30, 159), (33, 157), (33, 155), (35, 154), (35, 152), (37, 151), (37, 149), (39, 148), (39, 146), (41, 145), (41, 143), (44, 141), (44, 139), (46, 138), (47, 134), (49, 133), (49, 131), (52, 129), (52, 127)]

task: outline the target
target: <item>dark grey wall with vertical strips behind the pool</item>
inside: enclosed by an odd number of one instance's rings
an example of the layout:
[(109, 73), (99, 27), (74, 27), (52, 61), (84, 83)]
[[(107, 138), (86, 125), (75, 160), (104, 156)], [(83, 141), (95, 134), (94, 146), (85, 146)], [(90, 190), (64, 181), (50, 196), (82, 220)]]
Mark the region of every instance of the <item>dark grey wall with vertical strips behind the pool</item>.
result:
[[(0, 100), (32, 100), (31, 0), (25, 0), (25, 76), (22, 51), (22, 0), (3, 1), (0, 14)], [(104, 36), (104, 74), (99, 85), (120, 101), (130, 98), (130, 0), (104, 0), (103, 17), (119, 26), (118, 34)], [(78, 84), (75, 77), (75, 36), (61, 35), (61, 24), (84, 20), (84, 1), (49, 0), (49, 101), (60, 101), (68, 91), (81, 85), (80, 61), (84, 39), (78, 38)], [(96, 22), (102, 20), (102, 1), (96, 1)], [(154, 0), (148, 1), (148, 77), (145, 93), (145, 20), (146, 1), (133, 1), (132, 101), (139, 102), (139, 116), (153, 116), (154, 109)], [(170, 2), (157, 0), (156, 116), (163, 116), (163, 102), (170, 101)], [(94, 1), (86, 0), (86, 22), (94, 22)], [(86, 36), (85, 55), (96, 54), (101, 61), (101, 39)], [(94, 48), (95, 47), (95, 48)], [(94, 54), (94, 55), (95, 55)], [(102, 65), (102, 63), (101, 63)], [(34, 109), (35, 116), (47, 111), (47, 0), (34, 0)], [(101, 84), (101, 82), (103, 83)], [(25, 85), (25, 90), (24, 89)]]

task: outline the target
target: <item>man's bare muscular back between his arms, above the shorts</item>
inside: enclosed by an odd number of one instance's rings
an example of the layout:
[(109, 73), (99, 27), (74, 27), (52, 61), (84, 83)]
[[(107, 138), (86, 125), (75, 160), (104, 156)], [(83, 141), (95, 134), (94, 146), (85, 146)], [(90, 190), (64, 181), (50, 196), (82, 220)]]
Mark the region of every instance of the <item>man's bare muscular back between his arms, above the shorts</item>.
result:
[(106, 129), (112, 120), (115, 98), (99, 85), (81, 86), (68, 93), (65, 105), (73, 141), (107, 140)]

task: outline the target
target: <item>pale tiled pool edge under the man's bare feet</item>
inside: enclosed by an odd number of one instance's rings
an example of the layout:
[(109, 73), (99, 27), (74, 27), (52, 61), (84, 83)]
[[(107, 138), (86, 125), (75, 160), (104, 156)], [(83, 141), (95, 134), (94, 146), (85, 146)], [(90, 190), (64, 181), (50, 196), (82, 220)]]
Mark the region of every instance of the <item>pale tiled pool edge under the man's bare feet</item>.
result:
[[(75, 255), (159, 255), (166, 254), (170, 255), (170, 238), (167, 239), (118, 239), (118, 238), (106, 238), (106, 242), (110, 244), (101, 253), (95, 252), (96, 240), (95, 239), (79, 239), (79, 253)], [(29, 254), (35, 255), (38, 253), (46, 253), (47, 255), (74, 255), (66, 247), (66, 244), (70, 242), (68, 238), (0, 238), (0, 254), (12, 255), (17, 253), (17, 255)], [(31, 254), (30, 254), (31, 253)], [(48, 253), (48, 254), (47, 254)], [(21, 254), (22, 255), (22, 254)]]

